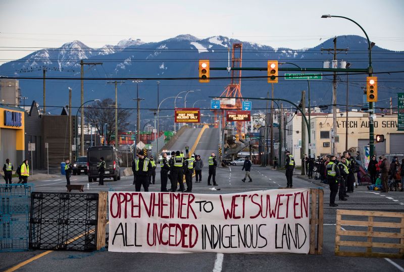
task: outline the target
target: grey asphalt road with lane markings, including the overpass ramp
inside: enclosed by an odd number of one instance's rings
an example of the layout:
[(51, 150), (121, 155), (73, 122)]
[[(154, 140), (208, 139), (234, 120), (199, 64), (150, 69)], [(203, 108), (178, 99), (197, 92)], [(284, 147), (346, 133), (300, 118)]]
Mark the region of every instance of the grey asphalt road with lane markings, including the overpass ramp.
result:
[[(178, 149), (188, 144), (191, 146), (200, 130), (189, 129), (183, 136), (188, 137), (189, 142), (181, 139)], [(181, 137), (182, 138), (182, 137)], [(208, 165), (208, 155), (215, 151), (218, 139), (218, 131), (206, 129), (200, 137), (195, 152), (201, 154), (205, 165)], [(217, 151), (217, 149), (216, 149)], [(160, 173), (157, 170), (156, 185), (150, 185), (150, 191), (160, 190)], [(203, 182), (193, 184), (193, 193), (201, 194), (226, 194), (239, 193), (254, 190), (276, 189), (286, 185), (285, 175), (282, 171), (274, 171), (270, 168), (253, 166), (251, 177), (253, 182), (243, 183), (241, 166), (217, 169), (217, 182), (221, 190), (212, 191), (213, 186), (208, 186), (208, 168), (203, 170)], [(132, 176), (122, 177), (120, 181), (106, 180), (104, 186), (97, 183), (89, 184), (85, 192), (98, 191), (134, 191)], [(293, 270), (369, 270), (369, 271), (404, 271), (404, 260), (385, 258), (361, 258), (334, 256), (335, 245), (335, 217), (336, 209), (328, 205), (329, 189), (322, 187), (320, 183), (313, 183), (305, 178), (295, 175), (293, 179), (295, 188), (322, 188), (324, 189), (324, 252), (322, 255), (299, 254), (156, 254), (156, 253), (117, 253), (108, 251), (96, 252), (66, 252), (52, 251), (46, 255), (39, 255), (43, 251), (0, 253), (2, 261), (0, 270), (6, 270), (15, 265), (29, 260), (31, 257), (39, 258), (21, 266), (19, 271), (99, 271), (99, 270), (139, 270), (139, 271), (293, 271)], [(193, 180), (194, 181), (194, 180)], [(86, 176), (73, 176), (72, 184), (83, 184), (87, 187)], [(50, 180), (34, 182), (34, 191), (64, 192), (65, 179), (63, 176)], [(341, 209), (362, 209), (381, 211), (404, 211), (404, 193), (390, 192), (388, 194), (369, 192), (365, 186), (359, 186), (348, 201), (337, 201)]]

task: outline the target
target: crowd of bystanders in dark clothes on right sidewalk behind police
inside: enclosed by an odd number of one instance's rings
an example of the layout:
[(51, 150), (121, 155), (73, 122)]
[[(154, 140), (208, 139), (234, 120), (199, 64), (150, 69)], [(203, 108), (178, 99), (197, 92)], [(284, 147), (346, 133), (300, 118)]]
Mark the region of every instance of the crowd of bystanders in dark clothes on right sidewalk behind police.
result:
[[(362, 158), (360, 152), (356, 153), (356, 156), (351, 156), (347, 152), (349, 157), (355, 159), (355, 172), (357, 179), (355, 180), (355, 187), (361, 184), (361, 178), (363, 174), (359, 173), (361, 170), (366, 171), (362, 167)], [(338, 156), (337, 161), (341, 161), (341, 156)], [(323, 157), (309, 158), (305, 155), (304, 166), (309, 179), (316, 178), (322, 183), (328, 183), (326, 166), (330, 161), (330, 155)], [(370, 176), (370, 183), (368, 185), (369, 190), (381, 190), (381, 191), (403, 191), (404, 186), (404, 159), (401, 161), (394, 156), (390, 162), (386, 156), (379, 156), (378, 158), (373, 155), (370, 159), (367, 172)]]

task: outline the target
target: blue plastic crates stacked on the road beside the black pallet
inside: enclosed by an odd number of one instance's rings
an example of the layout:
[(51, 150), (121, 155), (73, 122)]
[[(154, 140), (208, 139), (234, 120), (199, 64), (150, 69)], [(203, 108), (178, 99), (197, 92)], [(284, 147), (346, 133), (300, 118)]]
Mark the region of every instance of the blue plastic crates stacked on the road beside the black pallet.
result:
[(0, 184), (0, 252), (28, 250), (32, 184)]

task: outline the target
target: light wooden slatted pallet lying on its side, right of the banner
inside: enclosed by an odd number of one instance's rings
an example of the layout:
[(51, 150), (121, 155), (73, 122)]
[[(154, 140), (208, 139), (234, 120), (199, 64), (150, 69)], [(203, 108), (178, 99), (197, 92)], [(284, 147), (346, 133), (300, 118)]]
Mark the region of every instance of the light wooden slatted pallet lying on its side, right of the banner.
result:
[[(346, 220), (342, 215), (367, 216), (367, 221)], [(390, 221), (376, 221), (375, 218), (383, 217)], [(398, 220), (397, 220), (398, 219)], [(395, 221), (395, 222), (391, 222)], [(399, 222), (397, 222), (399, 221)], [(367, 227), (367, 231), (345, 230), (341, 226)], [(390, 232), (375, 231), (374, 228), (390, 228)], [(399, 229), (391, 232), (391, 228)], [(347, 241), (342, 237), (367, 237), (367, 241)], [(373, 238), (387, 238), (389, 241), (374, 242)], [(391, 238), (395, 242), (391, 242)], [(380, 240), (380, 239), (379, 239)], [(340, 246), (362, 247), (364, 251), (340, 250)], [(396, 253), (377, 252), (376, 248), (396, 249)], [(337, 256), (358, 256), (358, 257), (381, 257), (381, 258), (404, 258), (404, 213), (385, 211), (365, 211), (365, 210), (337, 210), (336, 235), (335, 235), (335, 255)]]

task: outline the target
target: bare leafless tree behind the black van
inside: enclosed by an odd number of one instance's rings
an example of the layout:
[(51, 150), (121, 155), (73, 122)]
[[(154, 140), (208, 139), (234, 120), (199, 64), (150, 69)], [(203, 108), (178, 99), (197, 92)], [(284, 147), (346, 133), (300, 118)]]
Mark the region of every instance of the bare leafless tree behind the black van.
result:
[[(115, 133), (115, 101), (111, 98), (105, 98), (101, 101), (96, 101), (90, 106), (85, 107), (85, 118), (95, 126), (100, 135), (104, 135), (107, 144), (110, 144), (112, 135), (119, 135), (119, 131), (126, 130), (130, 116), (129, 111), (119, 109), (118, 104), (118, 133)], [(107, 131), (103, 131), (104, 124), (107, 124)]]

